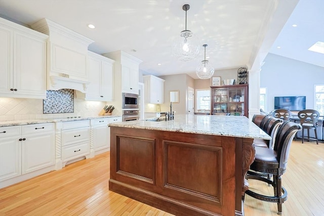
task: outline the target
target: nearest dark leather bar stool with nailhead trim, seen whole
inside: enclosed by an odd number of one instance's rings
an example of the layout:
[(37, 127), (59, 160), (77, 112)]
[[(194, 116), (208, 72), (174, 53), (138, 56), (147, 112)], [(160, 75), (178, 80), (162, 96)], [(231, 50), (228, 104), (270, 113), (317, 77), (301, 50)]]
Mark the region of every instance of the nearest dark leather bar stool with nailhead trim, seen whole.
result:
[[(247, 176), (247, 179), (266, 182), (273, 187), (273, 196), (259, 194), (250, 189), (246, 191), (246, 194), (262, 201), (277, 203), (279, 215), (282, 214), (282, 203), (288, 198), (287, 190), (281, 186), (281, 176), (287, 169), (293, 138), (301, 128), (300, 124), (284, 121), (278, 128), (273, 149), (255, 147), (255, 160), (250, 166), (250, 170), (253, 172)], [(272, 180), (264, 177), (264, 174), (273, 175)], [(245, 194), (242, 196), (243, 201), (244, 198)]]

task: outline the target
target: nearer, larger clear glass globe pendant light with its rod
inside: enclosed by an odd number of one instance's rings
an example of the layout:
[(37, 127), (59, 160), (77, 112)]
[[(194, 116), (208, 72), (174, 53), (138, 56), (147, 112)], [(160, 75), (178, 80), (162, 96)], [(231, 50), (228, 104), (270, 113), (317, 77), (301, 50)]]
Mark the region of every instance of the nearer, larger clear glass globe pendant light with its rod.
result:
[(182, 9), (186, 12), (186, 28), (180, 32), (180, 35), (175, 39), (173, 46), (173, 54), (180, 61), (190, 61), (195, 59), (199, 53), (199, 39), (193, 32), (187, 30), (187, 11), (189, 8), (189, 5), (182, 6)]

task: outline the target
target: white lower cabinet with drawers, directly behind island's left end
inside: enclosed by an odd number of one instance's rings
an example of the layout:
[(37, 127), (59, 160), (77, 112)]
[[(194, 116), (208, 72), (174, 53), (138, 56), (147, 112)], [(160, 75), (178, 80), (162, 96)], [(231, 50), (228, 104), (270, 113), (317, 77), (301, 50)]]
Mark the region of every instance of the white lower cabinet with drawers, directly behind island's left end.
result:
[(120, 121), (121, 117), (98, 118), (91, 120), (91, 148), (94, 155), (110, 150), (110, 128), (108, 127), (108, 124)]

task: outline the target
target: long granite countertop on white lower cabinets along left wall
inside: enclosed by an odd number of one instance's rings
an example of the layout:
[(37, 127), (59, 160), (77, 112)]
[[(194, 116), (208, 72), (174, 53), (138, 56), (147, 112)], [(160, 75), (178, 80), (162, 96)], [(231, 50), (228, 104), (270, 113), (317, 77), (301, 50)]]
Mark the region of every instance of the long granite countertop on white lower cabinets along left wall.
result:
[(114, 118), (114, 117), (121, 117), (121, 116), (120, 115), (96, 115), (96, 116), (88, 116), (88, 117), (80, 117), (80, 118), (58, 117), (58, 118), (48, 118), (48, 119), (0, 121), (0, 127), (26, 125), (26, 124), (64, 122), (64, 121), (90, 120), (90, 119), (96, 119), (96, 118)]

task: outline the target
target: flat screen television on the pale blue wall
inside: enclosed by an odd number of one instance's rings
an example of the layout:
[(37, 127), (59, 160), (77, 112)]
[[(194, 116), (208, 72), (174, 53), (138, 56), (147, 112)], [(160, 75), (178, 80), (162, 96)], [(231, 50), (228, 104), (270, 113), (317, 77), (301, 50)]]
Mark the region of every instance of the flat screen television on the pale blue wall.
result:
[(306, 109), (306, 96), (274, 97), (274, 109), (300, 111)]

